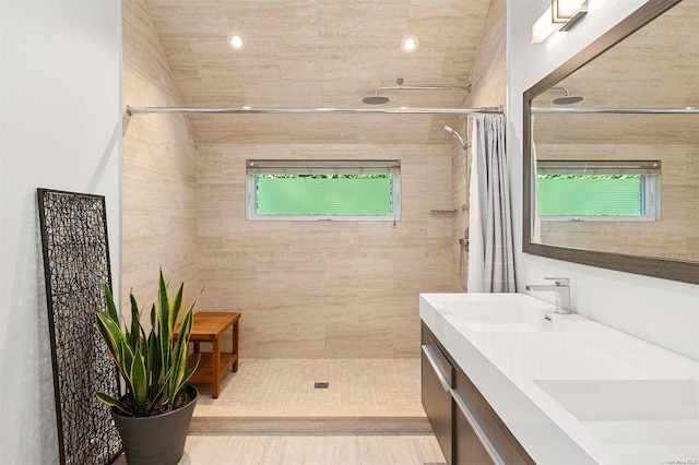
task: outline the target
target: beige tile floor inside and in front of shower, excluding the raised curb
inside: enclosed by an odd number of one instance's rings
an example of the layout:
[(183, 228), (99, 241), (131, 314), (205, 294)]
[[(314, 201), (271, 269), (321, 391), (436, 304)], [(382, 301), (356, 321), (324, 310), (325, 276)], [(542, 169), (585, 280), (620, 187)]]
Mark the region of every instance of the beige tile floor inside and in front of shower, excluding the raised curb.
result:
[[(199, 386), (198, 407), (420, 406), (419, 359), (241, 359), (218, 398)], [(328, 389), (315, 389), (328, 382)], [(197, 415), (197, 413), (194, 414)], [(116, 464), (126, 464), (120, 457)], [(445, 464), (429, 433), (191, 433), (180, 465)]]

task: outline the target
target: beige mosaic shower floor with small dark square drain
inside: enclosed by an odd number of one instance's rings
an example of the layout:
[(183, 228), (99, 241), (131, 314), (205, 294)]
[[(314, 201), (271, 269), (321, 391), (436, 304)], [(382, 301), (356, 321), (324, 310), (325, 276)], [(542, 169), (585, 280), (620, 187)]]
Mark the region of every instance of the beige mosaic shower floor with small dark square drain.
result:
[[(199, 385), (198, 405), (419, 406), (419, 358), (246, 358), (223, 379), (218, 398), (211, 398), (209, 385)], [(328, 389), (315, 389), (318, 382)]]

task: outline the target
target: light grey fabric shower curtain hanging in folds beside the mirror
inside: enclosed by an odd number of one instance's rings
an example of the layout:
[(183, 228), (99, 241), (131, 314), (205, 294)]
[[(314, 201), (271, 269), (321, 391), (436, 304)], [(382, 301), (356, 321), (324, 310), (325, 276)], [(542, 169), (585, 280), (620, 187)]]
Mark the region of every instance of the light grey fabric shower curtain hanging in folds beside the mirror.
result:
[(469, 293), (514, 293), (505, 117), (474, 118), (469, 192)]

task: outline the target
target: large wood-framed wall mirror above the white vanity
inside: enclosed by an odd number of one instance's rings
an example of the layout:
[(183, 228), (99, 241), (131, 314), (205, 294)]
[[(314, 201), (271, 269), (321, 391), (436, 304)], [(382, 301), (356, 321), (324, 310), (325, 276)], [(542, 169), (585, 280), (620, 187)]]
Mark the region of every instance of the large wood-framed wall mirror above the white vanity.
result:
[(524, 252), (699, 284), (698, 4), (650, 0), (524, 93)]

